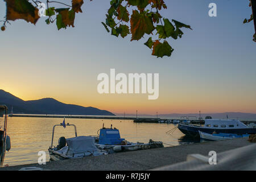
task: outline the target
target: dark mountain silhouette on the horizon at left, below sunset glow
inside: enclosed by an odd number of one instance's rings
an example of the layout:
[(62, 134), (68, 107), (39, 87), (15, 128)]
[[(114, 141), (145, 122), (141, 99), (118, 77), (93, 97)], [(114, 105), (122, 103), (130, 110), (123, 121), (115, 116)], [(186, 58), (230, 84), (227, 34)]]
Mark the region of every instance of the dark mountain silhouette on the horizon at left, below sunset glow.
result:
[(72, 114), (72, 115), (114, 115), (107, 110), (95, 107), (64, 104), (54, 98), (42, 98), (34, 101), (23, 101), (5, 90), (0, 90), (0, 105), (6, 105), (9, 113), (13, 107), (15, 114)]

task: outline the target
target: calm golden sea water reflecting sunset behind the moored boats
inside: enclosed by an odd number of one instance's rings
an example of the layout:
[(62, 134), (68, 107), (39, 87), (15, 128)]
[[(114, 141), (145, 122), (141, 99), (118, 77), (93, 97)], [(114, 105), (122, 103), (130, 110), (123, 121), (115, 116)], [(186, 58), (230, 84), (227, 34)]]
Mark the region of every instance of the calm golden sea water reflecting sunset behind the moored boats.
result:
[[(1, 124), (3, 118), (0, 118)], [(49, 160), (48, 148), (51, 145), (52, 127), (63, 122), (61, 118), (11, 118), (7, 123), (7, 134), (11, 138), (11, 150), (6, 151), (5, 163), (9, 166), (19, 164), (30, 164), (38, 162), (38, 152), (46, 151), (47, 161)], [(174, 129), (177, 125), (167, 123), (134, 123), (130, 120), (112, 120), (112, 119), (65, 119), (66, 123), (77, 126), (77, 135), (97, 135), (103, 123), (105, 127), (119, 129), (121, 138), (129, 142), (148, 142), (149, 139), (160, 140), (164, 143), (177, 146), (200, 142), (189, 140), (184, 137), (178, 129), (174, 133), (166, 134), (167, 131)], [(2, 125), (1, 125), (2, 126)], [(57, 146), (60, 137), (75, 137), (73, 127), (69, 126), (55, 128), (55, 137), (53, 145)], [(165, 147), (168, 147), (164, 144)]]

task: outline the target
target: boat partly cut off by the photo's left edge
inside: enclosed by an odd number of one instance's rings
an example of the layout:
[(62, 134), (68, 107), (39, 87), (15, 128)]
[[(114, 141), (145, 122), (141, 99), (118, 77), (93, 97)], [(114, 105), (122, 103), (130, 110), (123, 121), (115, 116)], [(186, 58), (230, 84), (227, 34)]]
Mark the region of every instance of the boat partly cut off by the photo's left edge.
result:
[(3, 126), (0, 126), (0, 167), (2, 167), (3, 161), (5, 160), (5, 152), (11, 149), (11, 140), (10, 137), (7, 135), (7, 106), (0, 105), (0, 115), (5, 115)]

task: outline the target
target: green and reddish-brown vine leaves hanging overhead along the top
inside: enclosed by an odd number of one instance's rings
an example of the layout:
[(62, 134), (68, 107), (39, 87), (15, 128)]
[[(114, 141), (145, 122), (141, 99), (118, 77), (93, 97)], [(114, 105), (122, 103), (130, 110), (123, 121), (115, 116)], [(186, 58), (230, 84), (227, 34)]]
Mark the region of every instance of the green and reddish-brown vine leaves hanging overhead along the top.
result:
[[(24, 19), (36, 24), (38, 21), (39, 5), (37, 0), (4, 0), (6, 2), (6, 19), (1, 30), (5, 30), (9, 20)], [(57, 29), (74, 27), (77, 13), (82, 13), (81, 6), (84, 0), (70, 0), (70, 5), (61, 1), (49, 1), (46, 3), (46, 23), (56, 23)], [(88, 0), (89, 1), (89, 0)], [(92, 0), (90, 0), (92, 1)], [(56, 8), (53, 5), (64, 6)], [(131, 36), (131, 41), (141, 40), (149, 36), (146, 43), (151, 49), (152, 55), (157, 57), (171, 56), (174, 49), (167, 42), (167, 38), (181, 38), (181, 28), (190, 26), (177, 20), (164, 18), (160, 11), (167, 9), (164, 0), (110, 0), (110, 8), (106, 13), (105, 22), (101, 22), (106, 31), (112, 35), (125, 38)], [(191, 29), (192, 30), (192, 29)], [(154, 40), (153, 40), (154, 39)]]

